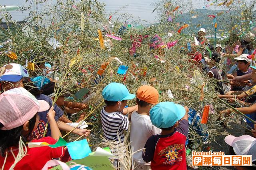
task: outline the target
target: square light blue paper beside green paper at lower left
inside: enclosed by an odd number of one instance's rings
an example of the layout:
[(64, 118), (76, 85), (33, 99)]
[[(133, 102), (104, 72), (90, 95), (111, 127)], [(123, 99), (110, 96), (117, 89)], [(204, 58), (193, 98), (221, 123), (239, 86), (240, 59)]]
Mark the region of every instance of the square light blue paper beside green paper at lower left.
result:
[(85, 158), (92, 152), (86, 139), (70, 142), (67, 147), (72, 159)]

